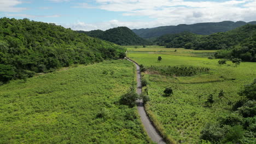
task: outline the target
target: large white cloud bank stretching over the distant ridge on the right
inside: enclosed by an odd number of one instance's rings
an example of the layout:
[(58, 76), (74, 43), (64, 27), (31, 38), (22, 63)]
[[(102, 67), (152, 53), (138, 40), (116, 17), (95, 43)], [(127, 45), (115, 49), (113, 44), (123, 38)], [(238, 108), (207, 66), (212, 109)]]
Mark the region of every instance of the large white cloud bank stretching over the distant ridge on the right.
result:
[[(233, 0), (225, 2), (183, 1), (183, 0), (95, 0), (98, 9), (119, 11), (123, 16), (146, 16), (154, 19), (150, 22), (107, 21), (101, 23), (77, 22), (69, 25), (73, 29), (89, 31), (91, 29), (108, 29), (117, 26), (129, 28), (147, 28), (181, 23), (219, 21), (254, 21), (256, 20), (255, 0)], [(242, 7), (241, 7), (242, 6)], [(82, 8), (95, 8), (87, 3)]]

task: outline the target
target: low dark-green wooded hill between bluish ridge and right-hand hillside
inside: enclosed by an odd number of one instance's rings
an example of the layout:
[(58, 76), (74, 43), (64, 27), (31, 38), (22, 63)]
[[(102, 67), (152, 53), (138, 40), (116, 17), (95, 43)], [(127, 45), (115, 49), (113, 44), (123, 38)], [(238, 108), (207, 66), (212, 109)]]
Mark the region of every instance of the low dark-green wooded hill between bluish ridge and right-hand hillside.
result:
[(185, 44), (191, 43), (196, 39), (203, 37), (190, 32), (182, 32), (178, 34), (166, 34), (157, 38), (154, 43), (160, 46), (166, 46), (167, 48), (181, 48), (185, 47)]

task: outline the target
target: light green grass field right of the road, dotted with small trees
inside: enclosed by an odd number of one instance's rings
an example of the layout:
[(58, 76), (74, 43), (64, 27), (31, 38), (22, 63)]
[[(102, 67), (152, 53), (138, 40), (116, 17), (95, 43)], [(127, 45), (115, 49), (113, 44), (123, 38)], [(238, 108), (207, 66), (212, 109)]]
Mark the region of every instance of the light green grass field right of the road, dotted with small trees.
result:
[[(133, 47), (133, 46), (132, 46)], [(170, 49), (172, 51), (174, 49)], [(139, 52), (136, 52), (139, 51)], [(165, 53), (159, 53), (165, 51)], [(200, 131), (208, 122), (216, 122), (219, 116), (230, 112), (232, 104), (241, 99), (237, 92), (256, 77), (256, 63), (242, 62), (235, 67), (218, 65), (219, 59), (208, 59), (206, 56), (197, 56), (195, 53), (212, 51), (194, 51), (177, 49), (180, 54), (168, 52), (169, 49), (160, 47), (146, 47), (133, 49), (127, 56), (143, 64), (151, 65), (192, 65), (210, 68), (209, 73), (194, 76), (170, 77), (156, 74), (143, 74), (148, 80), (148, 92), (151, 101), (146, 105), (147, 112), (163, 133), (177, 142), (197, 143)], [(193, 55), (193, 56), (191, 56)], [(162, 61), (158, 62), (158, 57)], [(164, 97), (166, 87), (172, 87), (173, 95)], [(219, 98), (219, 92), (224, 91), (224, 97)], [(213, 94), (214, 103), (207, 106), (205, 101)]]

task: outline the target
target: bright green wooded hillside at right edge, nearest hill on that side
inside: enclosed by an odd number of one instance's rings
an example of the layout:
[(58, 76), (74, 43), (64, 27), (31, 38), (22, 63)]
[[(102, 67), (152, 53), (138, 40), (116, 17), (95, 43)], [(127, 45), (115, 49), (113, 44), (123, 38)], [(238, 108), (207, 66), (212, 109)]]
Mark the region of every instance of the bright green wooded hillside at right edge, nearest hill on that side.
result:
[(185, 44), (186, 49), (220, 50), (217, 58), (241, 58), (256, 62), (256, 25), (245, 25), (228, 32), (214, 33)]

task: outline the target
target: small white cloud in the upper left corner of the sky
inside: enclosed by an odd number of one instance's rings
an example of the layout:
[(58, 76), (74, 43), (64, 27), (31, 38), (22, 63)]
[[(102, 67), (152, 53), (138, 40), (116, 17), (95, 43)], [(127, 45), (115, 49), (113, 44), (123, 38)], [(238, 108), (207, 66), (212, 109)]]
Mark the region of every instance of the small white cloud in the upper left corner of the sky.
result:
[(15, 7), (16, 5), (21, 4), (19, 0), (1, 0), (0, 1), (0, 11), (4, 12), (19, 12), (26, 10), (26, 8)]

